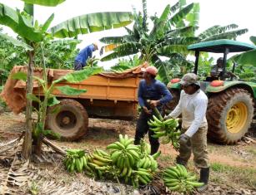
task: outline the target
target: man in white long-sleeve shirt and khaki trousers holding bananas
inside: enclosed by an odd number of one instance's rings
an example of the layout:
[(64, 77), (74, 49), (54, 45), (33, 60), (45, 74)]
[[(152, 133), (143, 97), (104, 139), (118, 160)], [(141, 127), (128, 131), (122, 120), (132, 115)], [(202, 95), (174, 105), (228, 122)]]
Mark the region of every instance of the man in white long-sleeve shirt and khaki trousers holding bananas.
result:
[(193, 152), (193, 162), (200, 168), (199, 182), (204, 183), (198, 191), (203, 192), (208, 188), (209, 164), (207, 152), (206, 110), (208, 98), (200, 90), (197, 76), (188, 73), (183, 76), (180, 84), (183, 90), (176, 108), (164, 119), (177, 118), (182, 114), (182, 134), (179, 139), (180, 149), (176, 162), (187, 165)]

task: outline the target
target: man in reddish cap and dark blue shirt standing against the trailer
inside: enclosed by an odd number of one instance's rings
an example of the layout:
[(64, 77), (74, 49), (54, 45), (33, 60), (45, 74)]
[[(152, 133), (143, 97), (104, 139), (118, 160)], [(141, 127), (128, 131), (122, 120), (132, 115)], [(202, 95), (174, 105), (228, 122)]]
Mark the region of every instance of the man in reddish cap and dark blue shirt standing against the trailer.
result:
[[(148, 66), (146, 69), (142, 68), (142, 71), (143, 80), (140, 80), (138, 85), (138, 103), (142, 107), (142, 111), (136, 126), (134, 144), (140, 144), (140, 140), (148, 133), (151, 154), (155, 154), (158, 152), (159, 141), (152, 137), (153, 131), (148, 127), (148, 120), (153, 118), (152, 107), (157, 107), (161, 112), (162, 105), (170, 101), (172, 95), (166, 85), (155, 79), (158, 74), (158, 69), (156, 67)], [(150, 100), (149, 104), (147, 100)]]

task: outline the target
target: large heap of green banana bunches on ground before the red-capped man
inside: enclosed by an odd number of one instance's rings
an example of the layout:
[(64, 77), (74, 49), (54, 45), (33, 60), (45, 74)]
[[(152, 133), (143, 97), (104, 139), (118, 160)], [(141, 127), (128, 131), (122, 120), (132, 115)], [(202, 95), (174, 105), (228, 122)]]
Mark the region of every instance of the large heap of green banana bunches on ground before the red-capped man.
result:
[(149, 144), (142, 140), (140, 145), (134, 145), (133, 141), (128, 135), (119, 134), (119, 140), (107, 146), (109, 153), (95, 149), (93, 153), (85, 154), (80, 149), (69, 149), (64, 159), (65, 167), (69, 172), (84, 171), (93, 178), (116, 179), (118, 183), (138, 188), (140, 184), (152, 181), (160, 152), (150, 155)]

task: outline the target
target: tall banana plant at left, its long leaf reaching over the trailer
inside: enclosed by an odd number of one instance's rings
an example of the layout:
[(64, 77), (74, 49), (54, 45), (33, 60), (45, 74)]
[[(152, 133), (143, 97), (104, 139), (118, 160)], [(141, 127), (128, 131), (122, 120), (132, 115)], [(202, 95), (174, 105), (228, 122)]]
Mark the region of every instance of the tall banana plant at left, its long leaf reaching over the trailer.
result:
[[(73, 17), (59, 25), (48, 29), (53, 22), (54, 14), (48, 17), (48, 20), (39, 25), (33, 17), (33, 5), (55, 7), (65, 0), (22, 0), (24, 9), (22, 12), (14, 10), (11, 7), (0, 3), (0, 24), (10, 27), (13, 32), (18, 34), (20, 40), (13, 41), (16, 46), (22, 46), (28, 53), (28, 79), (27, 79), (27, 94), (33, 92), (33, 66), (35, 52), (40, 48), (41, 42), (45, 37), (76, 37), (78, 34), (86, 34), (89, 32), (97, 32), (106, 29), (123, 27), (133, 21), (133, 15), (130, 12), (102, 12), (85, 14), (79, 17)], [(3, 38), (6, 36), (0, 35)], [(10, 37), (8, 37), (10, 39)], [(26, 124), (28, 130), (25, 134), (23, 142), (23, 156), (28, 158), (32, 152), (32, 100), (27, 100), (26, 107)], [(41, 153), (40, 137), (38, 136), (36, 153)]]

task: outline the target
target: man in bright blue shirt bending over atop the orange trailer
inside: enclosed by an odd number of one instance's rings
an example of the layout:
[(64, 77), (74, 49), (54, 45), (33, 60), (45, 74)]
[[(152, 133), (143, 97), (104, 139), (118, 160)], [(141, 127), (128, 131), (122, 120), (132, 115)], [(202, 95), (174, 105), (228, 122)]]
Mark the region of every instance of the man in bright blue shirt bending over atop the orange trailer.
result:
[(79, 71), (82, 70), (84, 66), (86, 66), (86, 61), (88, 58), (93, 56), (93, 51), (98, 50), (98, 46), (96, 43), (93, 43), (89, 46), (86, 46), (78, 53), (76, 56), (75, 63), (74, 63), (74, 70)]

